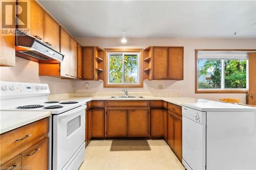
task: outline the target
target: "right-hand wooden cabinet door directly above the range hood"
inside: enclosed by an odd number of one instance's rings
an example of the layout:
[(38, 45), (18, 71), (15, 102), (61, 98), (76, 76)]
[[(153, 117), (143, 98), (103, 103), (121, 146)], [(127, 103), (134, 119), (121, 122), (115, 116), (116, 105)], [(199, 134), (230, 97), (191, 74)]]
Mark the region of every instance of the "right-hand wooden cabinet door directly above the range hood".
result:
[(59, 24), (44, 11), (44, 42), (59, 51)]

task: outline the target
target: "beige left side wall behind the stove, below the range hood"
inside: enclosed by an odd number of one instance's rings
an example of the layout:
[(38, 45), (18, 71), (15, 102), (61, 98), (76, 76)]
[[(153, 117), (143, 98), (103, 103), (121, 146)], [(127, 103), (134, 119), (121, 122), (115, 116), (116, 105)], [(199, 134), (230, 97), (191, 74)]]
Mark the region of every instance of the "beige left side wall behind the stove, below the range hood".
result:
[(74, 92), (74, 82), (38, 76), (38, 63), (16, 57), (15, 67), (0, 67), (1, 81), (48, 83), (51, 94)]

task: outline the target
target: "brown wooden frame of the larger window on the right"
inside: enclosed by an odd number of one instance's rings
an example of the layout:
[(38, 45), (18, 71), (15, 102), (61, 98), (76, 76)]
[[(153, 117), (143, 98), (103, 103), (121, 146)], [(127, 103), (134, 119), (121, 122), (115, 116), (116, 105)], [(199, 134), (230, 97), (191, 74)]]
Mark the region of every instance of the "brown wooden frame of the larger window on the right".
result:
[[(195, 93), (248, 93), (249, 90), (249, 63), (248, 60), (246, 62), (246, 89), (198, 89), (198, 58), (197, 58), (197, 53), (198, 51), (255, 51), (255, 50), (247, 50), (247, 49), (196, 49), (195, 50)], [(225, 67), (225, 63), (222, 61), (222, 76), (221, 76), (221, 86), (224, 85), (224, 79), (225, 76), (225, 70), (223, 69)]]

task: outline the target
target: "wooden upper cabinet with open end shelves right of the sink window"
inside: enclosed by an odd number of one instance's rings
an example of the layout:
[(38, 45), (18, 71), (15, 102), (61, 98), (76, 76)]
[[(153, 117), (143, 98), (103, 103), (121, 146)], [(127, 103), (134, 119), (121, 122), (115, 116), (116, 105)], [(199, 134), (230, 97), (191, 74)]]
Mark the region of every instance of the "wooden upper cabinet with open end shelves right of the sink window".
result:
[(143, 50), (143, 80), (183, 80), (183, 47), (150, 46)]

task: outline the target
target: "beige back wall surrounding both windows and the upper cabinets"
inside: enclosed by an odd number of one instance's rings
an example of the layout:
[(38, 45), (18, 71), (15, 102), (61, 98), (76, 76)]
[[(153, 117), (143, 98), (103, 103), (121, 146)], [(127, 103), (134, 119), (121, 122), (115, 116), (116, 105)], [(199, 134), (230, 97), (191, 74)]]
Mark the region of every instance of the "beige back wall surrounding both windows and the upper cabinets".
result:
[[(181, 39), (181, 38), (147, 38), (127, 39), (122, 45), (120, 38), (76, 38), (81, 45), (95, 45), (102, 48), (144, 48), (150, 45), (184, 46), (184, 80), (183, 81), (145, 81), (143, 88), (130, 88), (132, 92), (179, 92), (181, 96), (217, 100), (218, 98), (239, 98), (245, 103), (246, 94), (195, 94), (195, 49), (250, 49), (256, 47), (255, 39)], [(90, 89), (84, 83), (90, 83)], [(163, 85), (161, 90), (158, 85)], [(116, 88), (103, 88), (103, 82), (75, 81), (76, 92), (112, 92)]]

